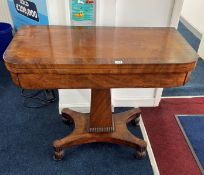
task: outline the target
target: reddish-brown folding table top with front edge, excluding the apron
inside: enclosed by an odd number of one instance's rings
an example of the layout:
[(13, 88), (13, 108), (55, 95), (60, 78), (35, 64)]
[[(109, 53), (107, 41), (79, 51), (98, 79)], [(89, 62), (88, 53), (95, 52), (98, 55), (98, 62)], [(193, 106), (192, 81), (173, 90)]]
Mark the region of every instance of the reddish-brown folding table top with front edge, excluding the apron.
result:
[(182, 72), (197, 58), (174, 28), (25, 26), (4, 54), (13, 72)]

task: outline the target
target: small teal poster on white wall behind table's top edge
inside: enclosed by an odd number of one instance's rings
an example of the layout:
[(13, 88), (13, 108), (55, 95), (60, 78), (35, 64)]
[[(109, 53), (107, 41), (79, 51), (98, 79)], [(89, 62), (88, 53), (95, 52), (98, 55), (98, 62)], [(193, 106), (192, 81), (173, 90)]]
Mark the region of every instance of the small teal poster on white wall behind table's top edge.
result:
[(71, 0), (72, 24), (95, 23), (95, 0)]

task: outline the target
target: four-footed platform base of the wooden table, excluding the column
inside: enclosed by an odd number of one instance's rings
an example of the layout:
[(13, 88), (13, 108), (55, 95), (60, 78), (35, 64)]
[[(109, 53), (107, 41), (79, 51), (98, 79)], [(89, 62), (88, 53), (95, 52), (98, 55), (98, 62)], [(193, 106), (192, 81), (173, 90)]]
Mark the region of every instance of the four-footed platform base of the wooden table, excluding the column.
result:
[(93, 142), (109, 142), (126, 145), (136, 150), (135, 155), (137, 158), (143, 158), (146, 153), (146, 142), (134, 136), (127, 128), (127, 123), (133, 121), (139, 115), (140, 109), (138, 108), (113, 114), (114, 130), (109, 130), (109, 132), (98, 132), (99, 130), (97, 132), (90, 132), (89, 114), (79, 113), (68, 108), (63, 109), (63, 119), (67, 122), (73, 122), (75, 128), (70, 135), (54, 141), (55, 160), (63, 159), (63, 150), (65, 148)]

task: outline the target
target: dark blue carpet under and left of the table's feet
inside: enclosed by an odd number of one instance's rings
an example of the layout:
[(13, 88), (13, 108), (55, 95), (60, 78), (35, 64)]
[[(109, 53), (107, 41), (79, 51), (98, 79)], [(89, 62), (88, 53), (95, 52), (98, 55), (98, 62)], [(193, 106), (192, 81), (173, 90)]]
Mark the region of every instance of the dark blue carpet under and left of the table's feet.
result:
[[(52, 142), (72, 131), (58, 117), (58, 102), (40, 109), (23, 107), (20, 89), (0, 61), (1, 175), (151, 175), (149, 157), (136, 160), (134, 150), (93, 143), (65, 151), (64, 161), (52, 159)], [(122, 109), (116, 109), (120, 112)], [(140, 129), (129, 129), (142, 137)]]

